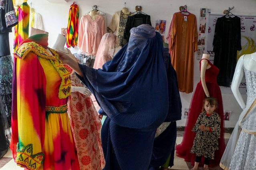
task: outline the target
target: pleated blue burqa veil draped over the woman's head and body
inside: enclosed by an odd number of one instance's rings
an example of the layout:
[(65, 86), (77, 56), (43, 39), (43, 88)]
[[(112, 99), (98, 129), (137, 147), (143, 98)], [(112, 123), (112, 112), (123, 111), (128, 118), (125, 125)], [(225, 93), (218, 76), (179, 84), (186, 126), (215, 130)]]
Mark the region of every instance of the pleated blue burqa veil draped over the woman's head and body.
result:
[(169, 108), (162, 38), (147, 24), (130, 32), (129, 43), (103, 69), (79, 64), (83, 71), (79, 78), (117, 125), (157, 128), (165, 121)]

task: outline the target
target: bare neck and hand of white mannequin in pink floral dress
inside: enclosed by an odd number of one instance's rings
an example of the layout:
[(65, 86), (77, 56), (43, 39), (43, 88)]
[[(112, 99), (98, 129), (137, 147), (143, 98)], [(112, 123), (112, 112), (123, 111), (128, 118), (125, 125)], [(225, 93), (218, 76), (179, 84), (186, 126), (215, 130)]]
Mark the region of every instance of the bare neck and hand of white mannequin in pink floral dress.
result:
[[(69, 49), (67, 49), (66, 47), (64, 47), (66, 41), (67, 41), (67, 39), (65, 38), (65, 36), (58, 34), (56, 42), (54, 43), (54, 45), (52, 45), (52, 49), (66, 53), (69, 55), (69, 57), (71, 57), (72, 59), (77, 61), (75, 59), (75, 56), (71, 53), (71, 51)], [(91, 91), (89, 91), (89, 89), (87, 89), (85, 87), (71, 86), (71, 93), (73, 93), (73, 92), (79, 92), (85, 96), (91, 96)]]

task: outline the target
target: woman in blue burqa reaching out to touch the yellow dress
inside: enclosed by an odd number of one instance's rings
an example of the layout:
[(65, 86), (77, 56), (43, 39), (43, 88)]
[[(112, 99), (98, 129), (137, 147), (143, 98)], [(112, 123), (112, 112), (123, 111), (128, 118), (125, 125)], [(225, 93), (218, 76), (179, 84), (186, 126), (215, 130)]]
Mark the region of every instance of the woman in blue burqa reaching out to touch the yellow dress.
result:
[[(165, 163), (174, 146), (165, 149), (168, 153), (159, 163), (163, 156), (153, 152), (157, 127), (164, 121), (180, 119), (179, 113), (171, 113), (175, 109), (169, 105), (177, 81), (170, 90), (161, 35), (147, 24), (132, 28), (130, 33), (129, 43), (102, 69), (78, 64), (58, 52), (62, 63), (76, 71), (95, 96), (102, 114), (107, 115), (101, 130), (104, 170), (147, 170)], [(179, 112), (181, 103), (176, 94)]]

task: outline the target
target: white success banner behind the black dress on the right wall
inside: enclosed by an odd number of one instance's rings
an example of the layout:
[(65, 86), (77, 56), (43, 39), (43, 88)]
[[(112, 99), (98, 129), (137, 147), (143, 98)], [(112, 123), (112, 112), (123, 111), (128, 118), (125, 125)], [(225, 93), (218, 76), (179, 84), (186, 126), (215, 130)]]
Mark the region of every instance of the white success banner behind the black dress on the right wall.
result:
[[(206, 20), (206, 28), (208, 28), (208, 32), (206, 32), (206, 43), (205, 43), (205, 53), (210, 54), (210, 61), (214, 63), (214, 52), (213, 52), (213, 40), (214, 40), (214, 30), (217, 19), (224, 16), (224, 14), (207, 14), (208, 17)], [(241, 16), (237, 15), (241, 18), (241, 45), (242, 50), (237, 52), (237, 59), (244, 54), (251, 54), (256, 51), (256, 16)], [(220, 86), (222, 93), (231, 94), (230, 87), (222, 87)], [(239, 90), (241, 94), (246, 94), (246, 81), (243, 78), (240, 83)]]

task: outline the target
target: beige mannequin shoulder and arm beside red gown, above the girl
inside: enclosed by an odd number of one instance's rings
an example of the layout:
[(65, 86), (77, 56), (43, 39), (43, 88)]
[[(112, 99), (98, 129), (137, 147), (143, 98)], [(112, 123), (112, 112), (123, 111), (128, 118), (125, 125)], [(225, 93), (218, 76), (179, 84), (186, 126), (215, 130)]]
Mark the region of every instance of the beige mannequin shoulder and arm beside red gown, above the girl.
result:
[(206, 97), (210, 97), (209, 91), (206, 86), (206, 79), (205, 79), (205, 74), (206, 74), (206, 69), (210, 69), (212, 66), (208, 63), (206, 59), (209, 60), (210, 55), (209, 54), (203, 54), (202, 56), (202, 61), (201, 61), (201, 83), (204, 89), (204, 93), (206, 94)]

